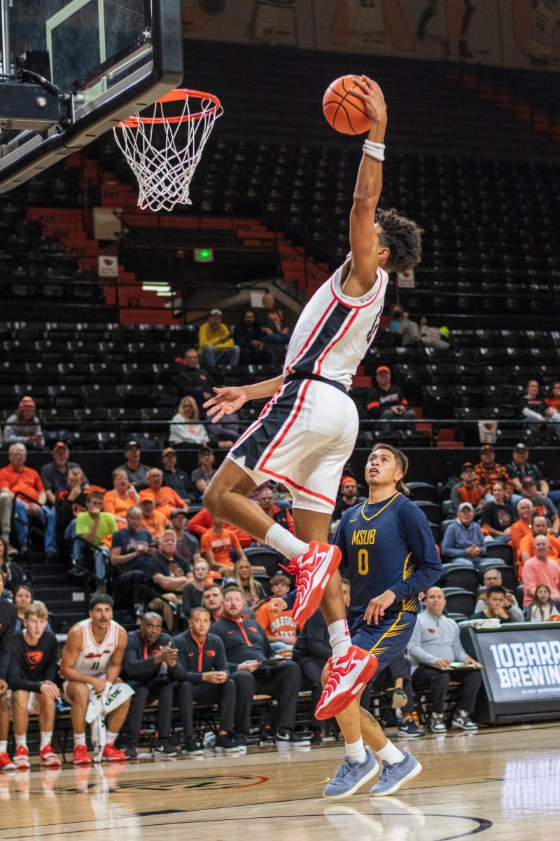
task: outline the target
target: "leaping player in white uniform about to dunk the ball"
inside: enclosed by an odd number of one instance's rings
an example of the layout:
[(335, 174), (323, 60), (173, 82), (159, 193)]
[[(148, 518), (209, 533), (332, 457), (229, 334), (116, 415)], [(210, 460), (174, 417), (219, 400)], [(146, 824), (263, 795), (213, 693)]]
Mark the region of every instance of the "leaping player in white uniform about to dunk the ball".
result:
[[(350, 641), (337, 569), (341, 553), (327, 543), (327, 532), (343, 466), (358, 433), (358, 412), (348, 389), (379, 326), (387, 271), (416, 265), (421, 230), (394, 210), (379, 212), (375, 223), (387, 111), (376, 82), (362, 76), (356, 84), (355, 95), (364, 101), (372, 124), (353, 195), (351, 253), (306, 304), (283, 373), (264, 383), (214, 389), (216, 396), (205, 404), (216, 422), (249, 399), (272, 396), (228, 452), (204, 503), (214, 516), (292, 559), (288, 569), (296, 575), (296, 621), (305, 621), (321, 604), (333, 657), (316, 717), (332, 717), (352, 703), (344, 736), (350, 746), (361, 745), (363, 753), (356, 696), (377, 661)], [(247, 498), (270, 479), (290, 488), (296, 535)]]

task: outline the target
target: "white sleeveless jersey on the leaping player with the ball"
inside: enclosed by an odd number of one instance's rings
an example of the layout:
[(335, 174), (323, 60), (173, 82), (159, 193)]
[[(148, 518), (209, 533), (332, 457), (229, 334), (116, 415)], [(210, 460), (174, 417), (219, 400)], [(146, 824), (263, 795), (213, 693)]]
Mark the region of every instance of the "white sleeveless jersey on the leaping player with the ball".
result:
[(362, 298), (341, 292), (343, 263), (303, 309), (285, 356), (284, 374), (315, 373), (352, 385), (353, 374), (374, 341), (383, 312), (387, 272), (377, 270), (373, 288)]

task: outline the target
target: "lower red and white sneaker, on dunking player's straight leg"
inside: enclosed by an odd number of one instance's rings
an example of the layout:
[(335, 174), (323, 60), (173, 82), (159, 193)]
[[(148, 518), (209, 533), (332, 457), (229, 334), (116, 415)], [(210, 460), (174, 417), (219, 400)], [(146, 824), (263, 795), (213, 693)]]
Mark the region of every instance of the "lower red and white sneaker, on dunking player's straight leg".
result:
[(331, 674), (315, 710), (315, 717), (320, 720), (345, 710), (372, 679), (378, 663), (373, 654), (351, 645), (343, 657), (329, 658), (327, 666)]

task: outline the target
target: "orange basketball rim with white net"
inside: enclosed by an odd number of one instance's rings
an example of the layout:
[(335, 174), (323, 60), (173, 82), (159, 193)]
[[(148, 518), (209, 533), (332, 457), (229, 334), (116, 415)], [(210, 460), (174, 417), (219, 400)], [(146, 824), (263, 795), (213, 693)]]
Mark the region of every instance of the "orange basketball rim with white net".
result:
[[(200, 103), (199, 110), (191, 111), (193, 99)], [(174, 109), (170, 103), (179, 105)], [(152, 109), (151, 115), (133, 114), (113, 129), (138, 181), (139, 207), (172, 210), (175, 204), (192, 204), (191, 178), (214, 121), (222, 114), (222, 103), (212, 93), (177, 88)]]

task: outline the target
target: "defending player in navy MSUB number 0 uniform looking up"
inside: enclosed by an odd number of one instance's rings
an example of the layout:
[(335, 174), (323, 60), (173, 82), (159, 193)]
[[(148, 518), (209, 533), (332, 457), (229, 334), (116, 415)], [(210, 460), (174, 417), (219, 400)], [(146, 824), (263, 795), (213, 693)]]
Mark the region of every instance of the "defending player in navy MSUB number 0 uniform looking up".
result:
[[(389, 444), (376, 444), (365, 467), (368, 500), (344, 512), (334, 539), (343, 554), (341, 572), (350, 581), (352, 642), (373, 653), (379, 669), (385, 669), (406, 648), (416, 622), (417, 594), (442, 574), (426, 516), (400, 493), (407, 468), (403, 452)], [(270, 613), (275, 615), (290, 606), (293, 598), (288, 594), (284, 600), (272, 600)], [(360, 708), (359, 714), (364, 742), (384, 766), (370, 793), (390, 795), (419, 774), (421, 764), (410, 754), (402, 754), (368, 711)], [(353, 794), (379, 767), (363, 743), (348, 744), (352, 715), (348, 707), (337, 716), (347, 739), (347, 755), (323, 791), (334, 800)]]

